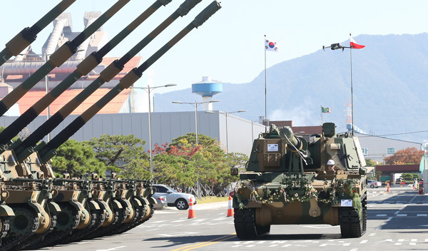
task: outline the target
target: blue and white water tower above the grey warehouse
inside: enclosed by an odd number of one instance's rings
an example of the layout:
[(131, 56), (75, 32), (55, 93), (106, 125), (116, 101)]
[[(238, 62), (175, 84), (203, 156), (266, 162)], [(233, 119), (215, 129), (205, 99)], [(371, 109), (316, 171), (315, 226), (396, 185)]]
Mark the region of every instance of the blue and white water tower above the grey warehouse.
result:
[(210, 76), (203, 76), (202, 81), (192, 84), (192, 93), (202, 96), (203, 110), (213, 111), (213, 96), (217, 93), (223, 93), (223, 83), (211, 80)]

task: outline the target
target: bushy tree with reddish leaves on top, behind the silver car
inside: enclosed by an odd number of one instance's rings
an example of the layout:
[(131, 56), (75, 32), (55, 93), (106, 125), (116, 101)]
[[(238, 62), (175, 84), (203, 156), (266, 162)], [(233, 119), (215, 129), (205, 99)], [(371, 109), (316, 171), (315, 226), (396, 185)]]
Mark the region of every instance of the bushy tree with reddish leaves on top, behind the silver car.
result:
[(231, 179), (230, 165), (241, 162), (239, 155), (226, 158), (220, 143), (206, 135), (199, 134), (195, 144), (195, 133), (174, 138), (170, 145), (156, 145), (153, 153), (156, 153), (156, 180), (182, 187), (193, 186), (200, 180), (212, 190), (223, 189)]

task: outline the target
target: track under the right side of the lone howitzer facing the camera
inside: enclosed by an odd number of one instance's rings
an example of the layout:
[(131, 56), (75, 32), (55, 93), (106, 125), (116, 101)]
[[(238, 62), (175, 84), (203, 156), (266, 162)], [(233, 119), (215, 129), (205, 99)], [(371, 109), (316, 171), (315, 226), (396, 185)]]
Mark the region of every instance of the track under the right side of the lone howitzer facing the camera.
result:
[(358, 238), (367, 229), (367, 197), (362, 200), (361, 217), (355, 208), (340, 208), (340, 233), (344, 238)]

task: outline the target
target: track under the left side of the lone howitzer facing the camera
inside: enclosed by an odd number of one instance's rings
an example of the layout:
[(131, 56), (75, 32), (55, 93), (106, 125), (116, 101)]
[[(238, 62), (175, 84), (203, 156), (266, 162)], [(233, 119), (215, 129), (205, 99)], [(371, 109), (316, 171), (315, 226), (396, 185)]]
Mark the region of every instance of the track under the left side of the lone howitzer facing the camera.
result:
[(270, 225), (260, 226), (255, 223), (255, 209), (235, 209), (236, 236), (241, 240), (252, 240), (270, 232)]

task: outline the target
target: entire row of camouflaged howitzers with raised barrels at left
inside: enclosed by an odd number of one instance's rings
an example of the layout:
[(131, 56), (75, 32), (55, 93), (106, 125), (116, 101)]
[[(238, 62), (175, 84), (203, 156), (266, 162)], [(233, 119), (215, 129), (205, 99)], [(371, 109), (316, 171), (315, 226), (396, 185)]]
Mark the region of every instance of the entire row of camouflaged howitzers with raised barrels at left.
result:
[[(17, 56), (36, 39), (36, 35), (60, 15), (76, 0), (63, 0), (34, 26), (22, 30), (14, 39), (6, 43), (0, 52), (0, 66), (12, 56)], [(99, 29), (117, 11), (130, 0), (118, 0), (105, 14), (78, 34), (75, 39), (63, 44), (56, 50), (46, 63), (27, 78), (20, 86), (0, 101), (0, 116), (11, 108), (36, 83), (39, 83), (53, 68), (61, 66), (73, 56), (77, 48), (86, 41), (93, 32)], [(29, 108), (10, 126), (0, 133), (0, 250), (21, 250), (63, 244), (83, 239), (91, 239), (103, 235), (125, 232), (146, 222), (153, 215), (151, 195), (155, 193), (151, 180), (119, 179), (112, 173), (108, 178), (100, 178), (96, 174), (89, 178), (76, 179), (64, 174), (56, 178), (49, 165), (49, 160), (56, 154), (56, 149), (70, 138), (77, 130), (106, 106), (118, 93), (135, 83), (148, 67), (175, 45), (194, 28), (202, 25), (210, 16), (220, 9), (220, 4), (213, 1), (195, 19), (185, 26), (168, 43), (138, 68), (126, 74), (118, 85), (111, 89), (93, 106), (78, 116), (66, 128), (61, 130), (49, 143), (40, 140), (58, 126), (76, 106), (91, 96), (96, 88), (110, 81), (133, 56), (151, 42), (163, 29), (175, 19), (188, 14), (190, 9), (201, 0), (185, 0), (180, 7), (170, 14), (162, 24), (131, 48), (122, 58), (114, 61), (100, 77), (85, 88), (81, 93), (51, 116), (42, 126), (29, 137), (11, 142), (19, 131), (25, 128), (63, 91), (81, 76), (86, 76), (103, 56), (111, 51), (128, 34), (153, 12), (172, 0), (157, 0), (146, 11), (131, 22), (123, 31), (108, 41), (100, 50), (91, 53), (76, 67), (76, 71), (65, 78), (54, 89), (46, 94), (34, 106)]]

